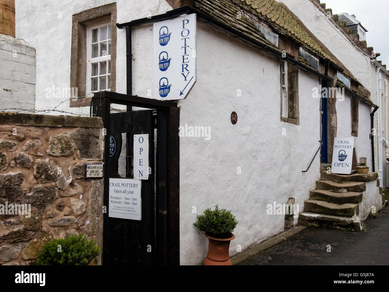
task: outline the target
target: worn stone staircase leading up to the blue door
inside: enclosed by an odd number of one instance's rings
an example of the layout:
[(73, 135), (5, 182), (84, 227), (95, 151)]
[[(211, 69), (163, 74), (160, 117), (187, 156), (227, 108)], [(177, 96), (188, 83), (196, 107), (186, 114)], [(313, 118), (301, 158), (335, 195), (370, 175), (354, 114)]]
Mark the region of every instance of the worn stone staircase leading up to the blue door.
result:
[(365, 182), (377, 179), (377, 173), (328, 174), (328, 167), (331, 164), (321, 164), (321, 179), (316, 181), (316, 189), (310, 191), (298, 225), (363, 230), (363, 222), (358, 217), (359, 203), (366, 191)]

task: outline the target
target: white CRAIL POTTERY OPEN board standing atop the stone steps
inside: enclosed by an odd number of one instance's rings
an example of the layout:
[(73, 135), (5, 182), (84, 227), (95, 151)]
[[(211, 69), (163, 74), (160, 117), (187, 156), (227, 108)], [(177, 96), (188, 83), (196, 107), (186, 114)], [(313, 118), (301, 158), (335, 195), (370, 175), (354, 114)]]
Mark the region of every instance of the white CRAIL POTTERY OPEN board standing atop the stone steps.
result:
[(350, 174), (352, 166), (352, 154), (354, 149), (354, 137), (338, 138), (334, 140), (332, 154), (332, 173)]

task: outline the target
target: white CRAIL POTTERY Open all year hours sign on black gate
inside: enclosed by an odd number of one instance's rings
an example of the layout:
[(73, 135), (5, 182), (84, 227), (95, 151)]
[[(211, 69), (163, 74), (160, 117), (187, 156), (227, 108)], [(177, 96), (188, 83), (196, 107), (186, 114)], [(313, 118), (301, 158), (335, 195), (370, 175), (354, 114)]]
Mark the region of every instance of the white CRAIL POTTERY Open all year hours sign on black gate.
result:
[(109, 179), (108, 216), (141, 220), (141, 181), (131, 178)]

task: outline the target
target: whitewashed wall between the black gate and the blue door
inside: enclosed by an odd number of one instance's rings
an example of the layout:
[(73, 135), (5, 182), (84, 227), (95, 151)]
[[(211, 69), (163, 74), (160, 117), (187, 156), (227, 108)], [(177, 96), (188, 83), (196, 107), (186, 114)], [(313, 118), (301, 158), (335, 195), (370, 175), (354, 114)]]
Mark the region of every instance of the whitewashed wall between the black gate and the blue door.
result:
[(197, 31), (198, 80), (179, 102), (180, 125), (210, 126), (211, 138), (180, 139), (181, 264), (200, 264), (207, 254), (193, 206), (232, 210), (239, 220), (233, 255), (237, 245), (244, 250), (284, 229), (284, 215), (267, 215), (267, 204), (293, 197), (302, 210), (319, 178), (319, 157), (302, 173), (319, 146), (319, 99), (312, 98), (319, 80), (300, 73), (300, 125), (281, 122), (278, 61), (201, 22)]

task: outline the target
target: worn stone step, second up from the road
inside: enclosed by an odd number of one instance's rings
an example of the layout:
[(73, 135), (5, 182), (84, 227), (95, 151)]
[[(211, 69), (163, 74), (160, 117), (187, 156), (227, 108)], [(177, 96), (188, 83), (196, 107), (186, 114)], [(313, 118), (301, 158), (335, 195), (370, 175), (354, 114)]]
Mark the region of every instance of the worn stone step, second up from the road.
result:
[(309, 199), (304, 203), (304, 211), (324, 215), (352, 217), (359, 213), (359, 205), (351, 203), (335, 204)]

